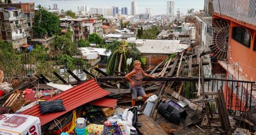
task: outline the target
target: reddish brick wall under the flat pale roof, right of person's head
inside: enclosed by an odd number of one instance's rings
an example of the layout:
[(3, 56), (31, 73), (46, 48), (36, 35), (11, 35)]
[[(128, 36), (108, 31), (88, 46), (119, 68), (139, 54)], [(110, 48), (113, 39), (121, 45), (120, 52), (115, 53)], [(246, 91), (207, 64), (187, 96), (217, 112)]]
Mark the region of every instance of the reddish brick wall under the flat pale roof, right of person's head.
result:
[(151, 54), (142, 54), (142, 57), (145, 57), (145, 67), (146, 70), (149, 68), (154, 68), (156, 65), (165, 60), (169, 55), (151, 55)]

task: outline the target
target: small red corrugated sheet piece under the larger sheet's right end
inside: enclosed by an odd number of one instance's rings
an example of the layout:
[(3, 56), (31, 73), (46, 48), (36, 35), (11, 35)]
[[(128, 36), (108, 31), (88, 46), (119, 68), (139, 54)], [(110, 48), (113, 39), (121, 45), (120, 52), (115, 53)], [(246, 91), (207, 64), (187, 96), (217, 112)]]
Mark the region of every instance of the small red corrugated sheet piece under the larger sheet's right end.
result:
[(117, 99), (100, 98), (95, 101), (89, 102), (90, 105), (101, 106), (101, 107), (116, 107)]

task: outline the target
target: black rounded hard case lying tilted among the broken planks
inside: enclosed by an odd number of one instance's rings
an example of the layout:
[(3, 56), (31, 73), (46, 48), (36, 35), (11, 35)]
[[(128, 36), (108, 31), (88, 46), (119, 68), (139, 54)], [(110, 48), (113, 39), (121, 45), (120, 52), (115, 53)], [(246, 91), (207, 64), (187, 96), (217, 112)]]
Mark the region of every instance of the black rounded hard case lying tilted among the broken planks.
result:
[(171, 99), (162, 101), (158, 106), (158, 112), (174, 124), (181, 124), (188, 115), (184, 107)]

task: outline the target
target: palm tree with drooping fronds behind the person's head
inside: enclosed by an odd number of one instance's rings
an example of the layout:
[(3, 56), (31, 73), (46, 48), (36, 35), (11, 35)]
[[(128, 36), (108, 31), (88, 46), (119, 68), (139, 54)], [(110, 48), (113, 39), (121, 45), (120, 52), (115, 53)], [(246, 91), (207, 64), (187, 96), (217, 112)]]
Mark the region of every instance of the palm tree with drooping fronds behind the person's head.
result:
[[(126, 41), (114, 41), (106, 47), (105, 53), (112, 52), (108, 58), (106, 65), (106, 72), (109, 75), (113, 75), (114, 71), (125, 72), (125, 70), (131, 70), (133, 67), (128, 68), (127, 59), (132, 58), (134, 60), (141, 60), (140, 51), (136, 48), (135, 44), (129, 44)], [(144, 67), (144, 65), (142, 65)]]

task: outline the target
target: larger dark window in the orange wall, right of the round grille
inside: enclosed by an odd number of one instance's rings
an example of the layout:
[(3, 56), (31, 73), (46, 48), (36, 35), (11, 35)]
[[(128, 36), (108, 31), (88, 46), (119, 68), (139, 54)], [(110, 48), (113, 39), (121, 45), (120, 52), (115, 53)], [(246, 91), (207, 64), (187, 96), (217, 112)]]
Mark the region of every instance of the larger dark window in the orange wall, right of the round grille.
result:
[(233, 28), (233, 38), (234, 38), (234, 40), (238, 41), (239, 43), (250, 48), (251, 35), (250, 35), (249, 30), (241, 28), (241, 27), (234, 27)]

